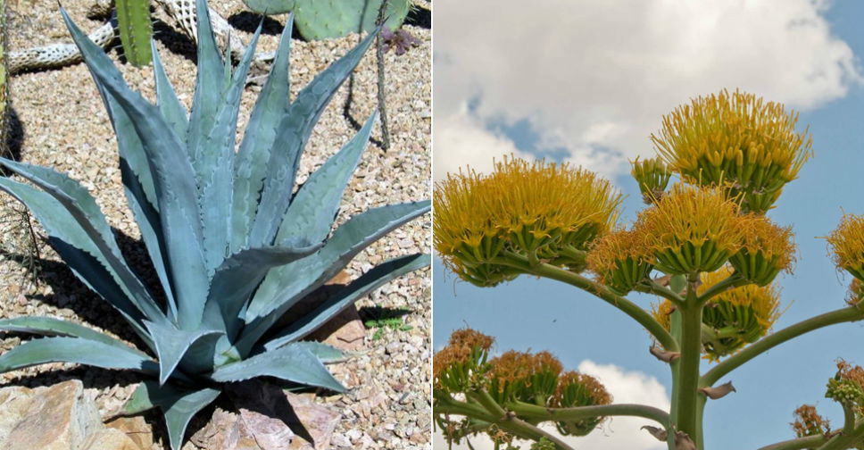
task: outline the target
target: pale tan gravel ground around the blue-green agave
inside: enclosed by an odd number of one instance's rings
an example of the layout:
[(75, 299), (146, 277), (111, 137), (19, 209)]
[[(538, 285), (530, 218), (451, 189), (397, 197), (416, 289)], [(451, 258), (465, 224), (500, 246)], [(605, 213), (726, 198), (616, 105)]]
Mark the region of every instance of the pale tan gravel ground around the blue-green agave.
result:
[[(65, 40), (54, 2), (18, 0), (9, 2), (9, 47), (12, 50)], [(96, 29), (98, 21), (86, 18), (87, 0), (65, 0), (63, 6), (82, 29)], [(213, 8), (238, 29), (248, 42), (257, 19), (239, 1), (211, 2)], [(428, 3), (425, 5), (428, 8)], [(157, 12), (157, 46), (181, 101), (187, 106), (195, 86), (194, 48), (173, 31), (170, 20)], [(274, 50), (284, 17), (265, 22), (259, 52)], [(430, 30), (406, 25), (422, 44), (397, 57), (386, 54), (386, 95), (392, 147), (384, 152), (371, 144), (364, 154), (346, 193), (339, 221), (370, 207), (420, 200), (430, 196), (430, 105), (431, 46)], [(296, 93), (312, 76), (338, 55), (344, 54), (359, 37), (323, 42), (292, 42), (292, 92)], [(130, 86), (153, 98), (150, 68), (137, 69), (120, 62), (120, 49), (110, 54), (120, 64)], [(376, 106), (375, 59), (370, 52), (356, 71), (349, 115), (362, 122)], [(248, 87), (243, 98), (238, 129), (244, 129), (256, 93)], [(110, 122), (83, 64), (62, 70), (24, 73), (12, 78), (13, 150), (21, 161), (32, 162), (57, 171), (68, 172), (96, 197), (108, 221), (119, 233), (120, 245), (133, 260), (141, 259), (136, 240), (138, 231), (126, 205), (117, 167), (116, 140)], [(347, 88), (342, 87), (306, 147), (299, 181), (334, 154), (355, 129), (345, 119), (343, 107)], [(373, 132), (380, 139), (380, 131)], [(12, 208), (9, 196), (0, 195), (0, 212)], [(21, 261), (26, 229), (4, 226), (3, 246), (12, 252), (0, 257), (0, 318), (20, 315), (51, 315), (86, 323), (135, 343), (129, 327), (97, 296), (83, 287), (65, 268), (50, 247), (39, 246), (43, 261), (38, 264), (38, 283), (29, 282), (31, 271)], [(41, 230), (36, 229), (37, 235)], [(388, 258), (415, 252), (430, 252), (431, 219), (428, 215), (396, 230), (360, 256), (349, 266), (356, 277), (374, 264)], [(132, 262), (136, 265), (135, 262)], [(366, 350), (349, 361), (330, 366), (336, 377), (350, 390), (344, 396), (320, 397), (342, 414), (333, 446), (356, 448), (431, 448), (430, 437), (430, 362), (431, 362), (431, 287), (429, 271), (418, 271), (382, 287), (361, 300), (359, 307), (380, 304), (385, 308), (406, 309), (404, 322), (411, 329), (384, 329), (378, 339), (373, 330), (366, 337)], [(0, 335), (0, 351), (21, 342), (16, 335)], [(51, 385), (62, 379), (82, 379), (88, 394), (96, 398), (101, 412), (107, 413), (125, 402), (140, 379), (132, 373), (104, 371), (72, 364), (49, 364), (0, 376), (0, 386)], [(152, 418), (151, 418), (152, 419)], [(158, 423), (158, 421), (154, 422)], [(161, 425), (159, 425), (161, 427)], [(158, 431), (157, 434), (161, 434)], [(156, 446), (155, 448), (163, 448)], [(187, 443), (184, 449), (195, 448)]]

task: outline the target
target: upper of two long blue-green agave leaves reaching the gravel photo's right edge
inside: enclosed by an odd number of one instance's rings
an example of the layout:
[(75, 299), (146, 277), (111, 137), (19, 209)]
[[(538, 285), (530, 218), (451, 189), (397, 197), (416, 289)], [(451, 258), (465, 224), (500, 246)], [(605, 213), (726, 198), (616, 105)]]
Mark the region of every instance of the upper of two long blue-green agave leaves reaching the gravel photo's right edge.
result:
[(271, 270), (249, 305), (246, 323), (278, 310), (281, 316), (303, 296), (309, 295), (353, 257), (390, 231), (429, 211), (431, 202), (388, 204), (352, 217), (336, 229), (318, 254)]

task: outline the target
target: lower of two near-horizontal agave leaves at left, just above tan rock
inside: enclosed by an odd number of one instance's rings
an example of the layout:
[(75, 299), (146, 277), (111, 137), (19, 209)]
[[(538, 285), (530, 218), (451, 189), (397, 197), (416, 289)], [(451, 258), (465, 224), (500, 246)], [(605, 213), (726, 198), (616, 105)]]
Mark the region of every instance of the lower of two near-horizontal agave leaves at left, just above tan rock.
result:
[(0, 372), (47, 362), (75, 362), (103, 369), (129, 369), (155, 375), (156, 362), (128, 346), (123, 349), (83, 337), (44, 337), (16, 346), (0, 356)]

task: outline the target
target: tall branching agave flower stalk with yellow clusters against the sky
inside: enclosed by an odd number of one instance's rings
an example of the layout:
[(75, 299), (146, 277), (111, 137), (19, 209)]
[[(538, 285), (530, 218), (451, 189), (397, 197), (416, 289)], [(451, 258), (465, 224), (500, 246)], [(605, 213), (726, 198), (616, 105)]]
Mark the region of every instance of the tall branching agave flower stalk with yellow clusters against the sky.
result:
[[(585, 290), (646, 329), (651, 353), (672, 376), (669, 411), (596, 397), (561, 404), (557, 366), (520, 356), (495, 369), (486, 361), (491, 337), (460, 330), (433, 361), (433, 413), (444, 436), (485, 433), (500, 444), (527, 439), (567, 450), (538, 425), (580, 435), (602, 417), (628, 415), (660, 423), (643, 428), (669, 450), (703, 450), (705, 407), (735, 391), (721, 379), (794, 337), (864, 319), (864, 215), (844, 214), (827, 243), (836, 267), (854, 278), (847, 304), (769, 332), (780, 314), (775, 279), (792, 271), (795, 246), (792, 229), (765, 212), (810, 158), (810, 136), (796, 121), (782, 104), (740, 91), (678, 107), (652, 136), (659, 157), (633, 162), (648, 205), (628, 227), (617, 223), (619, 195), (609, 183), (567, 164), (510, 158), (489, 175), (461, 171), (438, 183), (433, 232), (445, 267), (479, 287), (527, 274)], [(673, 175), (678, 182), (667, 190)], [(649, 311), (630, 292), (660, 301)], [(702, 358), (713, 362), (704, 373)], [(578, 386), (574, 392), (592, 391)], [(843, 407), (843, 429), (804, 405), (795, 412), (797, 438), (762, 450), (861, 448), (864, 369), (838, 362), (826, 396)]]

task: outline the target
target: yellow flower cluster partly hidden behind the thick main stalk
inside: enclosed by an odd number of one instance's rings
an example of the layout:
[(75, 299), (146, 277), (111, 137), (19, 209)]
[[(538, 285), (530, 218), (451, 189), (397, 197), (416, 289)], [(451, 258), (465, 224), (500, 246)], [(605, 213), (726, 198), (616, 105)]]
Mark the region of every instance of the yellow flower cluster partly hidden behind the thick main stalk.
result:
[[(710, 287), (727, 279), (732, 270), (723, 267), (702, 274), (697, 293), (702, 295)], [(779, 290), (774, 285), (759, 287), (752, 284), (735, 287), (713, 297), (702, 310), (702, 346), (711, 361), (734, 354), (746, 344), (755, 342), (768, 333), (780, 316)], [(652, 316), (670, 329), (669, 316), (673, 310), (669, 300), (652, 305)]]

